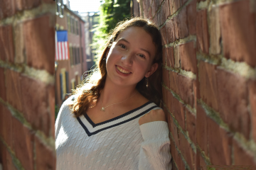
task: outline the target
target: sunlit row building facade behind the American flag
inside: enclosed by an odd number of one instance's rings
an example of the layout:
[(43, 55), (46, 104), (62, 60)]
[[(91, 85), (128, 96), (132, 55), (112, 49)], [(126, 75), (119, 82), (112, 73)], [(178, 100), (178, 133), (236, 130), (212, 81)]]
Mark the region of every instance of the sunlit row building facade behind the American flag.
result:
[(55, 61), (55, 104), (60, 108), (66, 94), (82, 83), (87, 71), (85, 21), (63, 1), (56, 2), (55, 30), (68, 30), (69, 60)]

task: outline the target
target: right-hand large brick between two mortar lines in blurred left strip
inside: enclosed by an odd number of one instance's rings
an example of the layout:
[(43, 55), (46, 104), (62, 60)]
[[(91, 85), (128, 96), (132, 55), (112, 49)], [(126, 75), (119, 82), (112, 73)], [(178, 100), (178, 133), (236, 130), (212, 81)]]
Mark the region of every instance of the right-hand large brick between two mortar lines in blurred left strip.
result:
[(33, 128), (42, 130), (48, 136), (50, 132), (48, 95), (52, 91), (41, 81), (36, 81), (26, 76), (21, 76), (21, 79), (24, 116)]

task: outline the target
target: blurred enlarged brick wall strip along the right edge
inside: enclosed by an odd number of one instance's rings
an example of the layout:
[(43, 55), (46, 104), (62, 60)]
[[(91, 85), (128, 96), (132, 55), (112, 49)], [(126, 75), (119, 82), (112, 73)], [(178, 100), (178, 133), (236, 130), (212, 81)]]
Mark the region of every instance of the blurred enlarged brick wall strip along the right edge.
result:
[(255, 1), (197, 2), (198, 169), (256, 166)]

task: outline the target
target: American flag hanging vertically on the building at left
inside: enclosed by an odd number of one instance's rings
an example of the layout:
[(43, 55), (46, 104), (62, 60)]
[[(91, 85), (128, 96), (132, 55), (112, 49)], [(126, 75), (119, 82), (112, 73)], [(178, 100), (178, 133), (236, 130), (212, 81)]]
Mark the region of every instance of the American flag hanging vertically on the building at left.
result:
[(68, 31), (57, 30), (55, 32), (55, 61), (68, 59)]

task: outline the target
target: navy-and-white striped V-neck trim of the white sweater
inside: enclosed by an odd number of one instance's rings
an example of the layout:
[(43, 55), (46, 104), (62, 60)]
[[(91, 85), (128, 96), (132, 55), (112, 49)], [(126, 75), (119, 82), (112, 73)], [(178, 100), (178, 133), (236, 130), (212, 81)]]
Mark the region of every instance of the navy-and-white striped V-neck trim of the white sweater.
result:
[(122, 125), (123, 123), (127, 123), (131, 120), (134, 120), (135, 118), (139, 118), (141, 115), (144, 115), (151, 111), (153, 108), (157, 107), (158, 106), (156, 106), (155, 103), (148, 101), (142, 106), (132, 109), (132, 111), (128, 111), (127, 113), (118, 115), (117, 117), (114, 117), (110, 120), (105, 120), (101, 123), (93, 123), (93, 121), (86, 113), (80, 115), (80, 117), (78, 117), (77, 119), (87, 135), (90, 136), (95, 135), (102, 130), (109, 129), (117, 125)]

